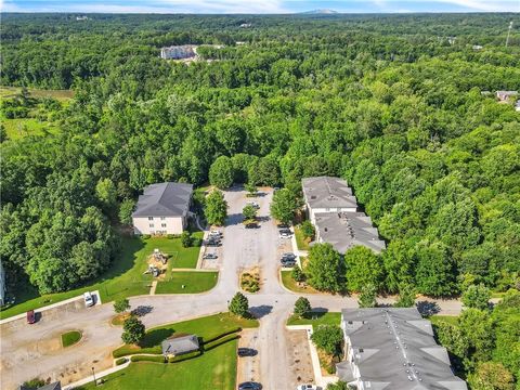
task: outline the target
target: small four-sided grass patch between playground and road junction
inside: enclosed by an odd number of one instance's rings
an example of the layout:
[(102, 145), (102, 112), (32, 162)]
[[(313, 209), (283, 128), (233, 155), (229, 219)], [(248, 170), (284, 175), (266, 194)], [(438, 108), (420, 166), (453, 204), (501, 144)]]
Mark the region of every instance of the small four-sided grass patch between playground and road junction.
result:
[(213, 288), (218, 280), (218, 272), (176, 271), (169, 273), (165, 282), (157, 283), (155, 294), (204, 292)]

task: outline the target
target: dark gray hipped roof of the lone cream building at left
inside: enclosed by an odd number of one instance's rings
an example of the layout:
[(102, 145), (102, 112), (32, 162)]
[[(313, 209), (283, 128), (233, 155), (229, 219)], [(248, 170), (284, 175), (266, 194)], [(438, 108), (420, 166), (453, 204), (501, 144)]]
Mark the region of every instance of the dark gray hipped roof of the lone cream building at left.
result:
[(132, 217), (182, 217), (190, 208), (193, 185), (157, 183), (144, 188)]

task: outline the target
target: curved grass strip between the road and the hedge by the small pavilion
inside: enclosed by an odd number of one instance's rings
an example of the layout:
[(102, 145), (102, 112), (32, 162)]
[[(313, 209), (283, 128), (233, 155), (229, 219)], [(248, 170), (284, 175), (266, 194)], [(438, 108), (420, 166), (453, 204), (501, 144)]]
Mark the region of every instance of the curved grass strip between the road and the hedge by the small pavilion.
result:
[(140, 347), (127, 344), (119, 347), (113, 353), (115, 356), (122, 356), (130, 353), (160, 353), (160, 342), (174, 333), (194, 334), (202, 337), (203, 340), (208, 340), (225, 332), (233, 330), (236, 327), (249, 328), (257, 326), (257, 320), (246, 320), (230, 313), (219, 313), (148, 329)]

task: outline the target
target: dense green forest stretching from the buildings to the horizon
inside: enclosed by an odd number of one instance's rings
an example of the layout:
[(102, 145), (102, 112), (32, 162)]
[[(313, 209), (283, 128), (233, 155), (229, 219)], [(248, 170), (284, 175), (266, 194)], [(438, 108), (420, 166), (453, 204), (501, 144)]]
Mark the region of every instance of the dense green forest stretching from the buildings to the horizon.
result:
[[(100, 275), (145, 185), (211, 172), (295, 196), (303, 177), (346, 178), (387, 239), (370, 259), (381, 291), (520, 288), (520, 113), (494, 96), (520, 90), (519, 26), (518, 14), (3, 14), (1, 84), (75, 92), (2, 101), (3, 118), (37, 108), (57, 128), (2, 129), (11, 288)], [(224, 47), (191, 64), (158, 56), (184, 43)]]

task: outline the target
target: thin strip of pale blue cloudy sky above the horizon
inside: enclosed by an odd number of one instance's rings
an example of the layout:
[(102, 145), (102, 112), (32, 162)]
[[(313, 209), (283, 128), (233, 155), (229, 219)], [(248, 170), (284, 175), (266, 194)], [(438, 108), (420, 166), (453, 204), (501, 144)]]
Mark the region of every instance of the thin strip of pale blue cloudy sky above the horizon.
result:
[(2, 12), (72, 13), (520, 12), (520, 0), (0, 0)]

